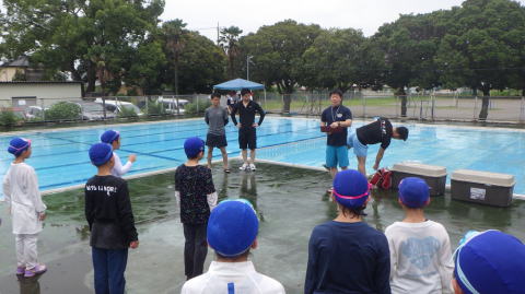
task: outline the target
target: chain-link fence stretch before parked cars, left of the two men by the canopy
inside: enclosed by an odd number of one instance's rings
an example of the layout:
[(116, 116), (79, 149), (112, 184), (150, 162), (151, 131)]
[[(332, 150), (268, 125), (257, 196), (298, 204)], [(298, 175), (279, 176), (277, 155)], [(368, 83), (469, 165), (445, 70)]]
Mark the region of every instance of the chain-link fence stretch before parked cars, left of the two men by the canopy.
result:
[(0, 126), (178, 117), (198, 115), (209, 105), (206, 94), (0, 99)]

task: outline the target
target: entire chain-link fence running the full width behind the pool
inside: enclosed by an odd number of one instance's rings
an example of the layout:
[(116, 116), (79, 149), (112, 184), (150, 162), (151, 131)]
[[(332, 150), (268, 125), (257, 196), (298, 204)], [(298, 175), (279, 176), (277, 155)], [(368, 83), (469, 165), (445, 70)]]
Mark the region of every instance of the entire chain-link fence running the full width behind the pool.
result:
[[(328, 93), (277, 94), (257, 92), (254, 99), (268, 113), (319, 116), (330, 106)], [(221, 104), (225, 106), (225, 97)], [(487, 118), (480, 119), (482, 97), (459, 95), (394, 96), (388, 92), (346, 93), (343, 105), (354, 118), (385, 116), (416, 120), (525, 122), (525, 98), (490, 97)], [(12, 98), (0, 101), (0, 125), (24, 122), (147, 119), (202, 114), (208, 94), (106, 96), (71, 98)]]

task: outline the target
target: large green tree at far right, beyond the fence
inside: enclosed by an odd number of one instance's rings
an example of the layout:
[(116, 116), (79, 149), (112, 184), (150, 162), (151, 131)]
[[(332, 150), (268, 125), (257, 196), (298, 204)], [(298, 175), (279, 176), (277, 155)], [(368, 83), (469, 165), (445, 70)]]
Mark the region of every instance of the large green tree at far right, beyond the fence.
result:
[[(448, 87), (480, 90), (483, 98), (479, 119), (485, 120), (490, 90), (510, 85), (510, 69), (520, 67), (523, 60), (518, 54), (523, 52), (523, 8), (510, 0), (467, 0), (453, 13), (436, 57), (443, 71), (441, 80)], [(520, 44), (521, 49), (514, 47)]]

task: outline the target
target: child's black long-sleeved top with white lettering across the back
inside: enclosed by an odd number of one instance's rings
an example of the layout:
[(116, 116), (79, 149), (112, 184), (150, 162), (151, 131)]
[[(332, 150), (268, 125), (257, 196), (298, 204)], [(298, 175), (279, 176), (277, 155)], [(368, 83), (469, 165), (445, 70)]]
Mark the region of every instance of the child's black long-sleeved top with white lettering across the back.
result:
[(138, 240), (126, 180), (115, 176), (94, 176), (85, 184), (84, 193), (91, 246), (124, 249)]

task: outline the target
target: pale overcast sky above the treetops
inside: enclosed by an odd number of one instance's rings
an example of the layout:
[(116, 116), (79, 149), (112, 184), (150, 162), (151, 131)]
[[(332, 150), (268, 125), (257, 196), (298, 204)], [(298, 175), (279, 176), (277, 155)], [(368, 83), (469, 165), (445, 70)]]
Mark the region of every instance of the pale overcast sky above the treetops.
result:
[[(328, 27), (353, 27), (373, 35), (399, 14), (427, 13), (460, 5), (462, 0), (166, 0), (162, 20), (182, 19), (189, 30), (217, 39), (217, 25), (243, 34), (292, 19)], [(520, 0), (525, 3), (525, 0)]]

